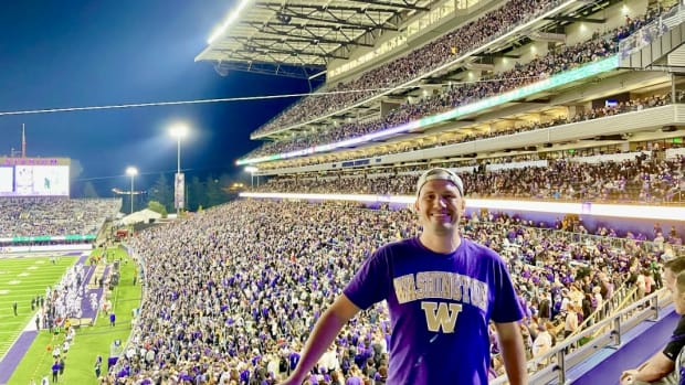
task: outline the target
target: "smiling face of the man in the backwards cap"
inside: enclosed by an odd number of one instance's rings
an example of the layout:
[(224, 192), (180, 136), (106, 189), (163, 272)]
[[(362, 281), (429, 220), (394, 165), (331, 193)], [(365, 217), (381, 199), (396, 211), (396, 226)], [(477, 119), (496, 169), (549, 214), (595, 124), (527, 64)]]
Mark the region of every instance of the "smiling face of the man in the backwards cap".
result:
[(459, 228), (464, 212), (464, 200), (459, 189), (449, 181), (428, 181), (414, 203), (419, 223), (432, 235), (447, 235)]

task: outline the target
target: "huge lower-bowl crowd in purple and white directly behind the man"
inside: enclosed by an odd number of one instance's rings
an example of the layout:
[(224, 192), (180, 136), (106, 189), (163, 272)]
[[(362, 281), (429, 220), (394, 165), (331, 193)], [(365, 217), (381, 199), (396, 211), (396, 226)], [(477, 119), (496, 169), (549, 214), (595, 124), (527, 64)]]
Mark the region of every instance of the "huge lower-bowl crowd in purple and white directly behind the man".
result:
[[(314, 322), (361, 260), (381, 244), (418, 233), (414, 215), (241, 200), (145, 231), (130, 244), (144, 267), (145, 300), (128, 353), (101, 383), (275, 383), (295, 367)], [(582, 229), (571, 217), (557, 225)], [(492, 213), (473, 213), (464, 224), (466, 237), (499, 252), (516, 272), (529, 357), (572, 333), (569, 314), (577, 328), (602, 300), (644, 281), (641, 275), (654, 281), (647, 291), (661, 285), (663, 252), (653, 244), (624, 239), (615, 248), (615, 238), (572, 242), (565, 234)], [(306, 383), (358, 377), (383, 384), (391, 338), (383, 306), (368, 309), (345, 328)], [(492, 341), (495, 376), (500, 361), (495, 335)]]

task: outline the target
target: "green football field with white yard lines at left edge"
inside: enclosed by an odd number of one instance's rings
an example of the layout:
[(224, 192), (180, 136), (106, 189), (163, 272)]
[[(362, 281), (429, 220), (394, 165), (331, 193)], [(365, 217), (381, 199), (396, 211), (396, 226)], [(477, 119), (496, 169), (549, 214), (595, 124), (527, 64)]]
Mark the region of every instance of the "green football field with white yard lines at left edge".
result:
[(31, 299), (45, 297), (45, 289), (57, 284), (77, 259), (78, 256), (48, 255), (0, 258), (0, 359), (27, 324), (33, 322), (38, 306), (32, 311)]

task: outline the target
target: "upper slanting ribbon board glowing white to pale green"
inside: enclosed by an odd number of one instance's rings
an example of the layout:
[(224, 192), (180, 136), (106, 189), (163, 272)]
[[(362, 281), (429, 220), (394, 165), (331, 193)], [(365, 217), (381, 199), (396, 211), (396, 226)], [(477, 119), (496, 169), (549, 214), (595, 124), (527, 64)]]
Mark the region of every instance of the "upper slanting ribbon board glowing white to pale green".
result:
[(608, 71), (615, 69), (618, 66), (619, 66), (619, 56), (613, 55), (613, 56), (610, 56), (610, 57), (607, 57), (607, 58), (603, 58), (597, 62), (592, 62), (590, 64), (586, 64), (577, 68), (569, 69), (563, 73), (544, 78), (539, 82), (529, 84), (520, 88), (509, 90), (507, 93), (504, 93), (497, 96), (488, 97), (488, 98), (481, 99), (478, 101), (475, 101), (468, 105), (460, 106), (445, 113), (423, 117), (419, 120), (413, 120), (413, 121), (410, 121), (410, 122), (407, 122), (407, 124), (403, 124), (403, 125), (400, 125), (400, 126), (397, 126), (397, 127), (393, 127), (387, 130), (367, 133), (362, 137), (351, 138), (351, 139), (347, 139), (340, 142), (316, 146), (316, 147), (308, 148), (305, 150), (296, 150), (296, 151), (291, 151), (286, 153), (278, 153), (278, 154), (266, 156), (266, 157), (261, 157), (261, 158), (241, 159), (241, 160), (235, 161), (235, 164), (245, 165), (245, 164), (268, 162), (273, 160), (289, 159), (289, 158), (301, 157), (304, 154), (309, 154), (309, 153), (315, 153), (315, 152), (330, 151), (330, 150), (334, 150), (340, 147), (348, 147), (352, 145), (363, 143), (369, 140), (381, 139), (381, 138), (386, 138), (386, 137), (393, 136), (397, 133), (409, 132), (417, 128), (423, 128), (423, 127), (435, 125), (435, 124), (439, 124), (445, 120), (460, 118), (465, 115), (470, 115), (470, 114), (478, 113), (478, 111), (482, 111), (488, 108), (497, 107), (497, 106), (500, 106), (500, 105), (504, 105), (510, 101), (515, 101), (517, 99), (521, 99), (524, 97), (527, 97), (534, 94), (538, 94), (538, 93), (541, 93), (548, 89), (552, 89), (552, 88), (569, 84), (569, 83), (578, 82), (587, 77), (591, 77), (591, 76), (594, 76), (594, 75), (598, 75), (598, 74), (601, 74)]

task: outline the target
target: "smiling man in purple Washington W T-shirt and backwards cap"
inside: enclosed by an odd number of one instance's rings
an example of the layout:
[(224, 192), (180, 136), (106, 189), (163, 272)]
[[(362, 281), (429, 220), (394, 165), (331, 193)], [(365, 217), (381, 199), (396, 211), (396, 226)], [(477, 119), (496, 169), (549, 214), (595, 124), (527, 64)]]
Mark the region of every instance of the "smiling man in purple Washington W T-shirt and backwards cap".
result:
[(301, 385), (342, 327), (386, 300), (392, 339), (388, 384), (487, 384), (488, 323), (494, 321), (512, 385), (527, 384), (518, 321), (524, 317), (505, 263), (461, 237), (462, 180), (424, 172), (414, 208), (423, 232), (373, 253), (322, 314), (299, 364), (284, 384)]

